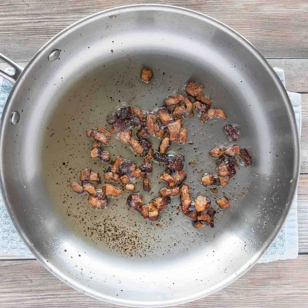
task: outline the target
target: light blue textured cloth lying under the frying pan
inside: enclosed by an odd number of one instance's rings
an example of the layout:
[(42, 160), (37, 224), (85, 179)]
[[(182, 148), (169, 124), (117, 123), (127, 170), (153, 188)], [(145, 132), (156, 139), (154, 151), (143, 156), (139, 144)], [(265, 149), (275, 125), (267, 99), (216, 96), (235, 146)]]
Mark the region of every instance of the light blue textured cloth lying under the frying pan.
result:
[[(284, 71), (274, 68), (277, 75), (285, 85)], [(7, 70), (9, 72), (9, 69)], [(0, 116), (6, 99), (11, 91), (12, 83), (0, 77)], [(292, 102), (299, 132), (301, 131), (301, 95), (288, 92)], [(0, 193), (0, 256), (25, 256), (33, 257), (29, 249), (20, 239), (10, 217), (6, 212), (6, 207)], [(274, 243), (265, 252), (258, 262), (270, 262), (279, 259), (296, 258), (298, 255), (298, 226), (297, 226), (297, 193), (292, 204), (287, 220)]]

